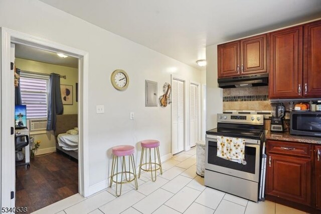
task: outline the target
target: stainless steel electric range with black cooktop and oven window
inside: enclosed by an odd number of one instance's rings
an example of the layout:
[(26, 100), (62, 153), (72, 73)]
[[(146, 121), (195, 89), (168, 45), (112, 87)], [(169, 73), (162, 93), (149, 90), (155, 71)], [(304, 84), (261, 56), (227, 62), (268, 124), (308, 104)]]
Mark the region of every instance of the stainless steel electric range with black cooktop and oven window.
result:
[[(263, 199), (265, 131), (258, 114), (218, 114), (217, 129), (206, 132), (205, 185), (252, 201)], [(242, 163), (217, 157), (217, 137), (245, 139)]]

